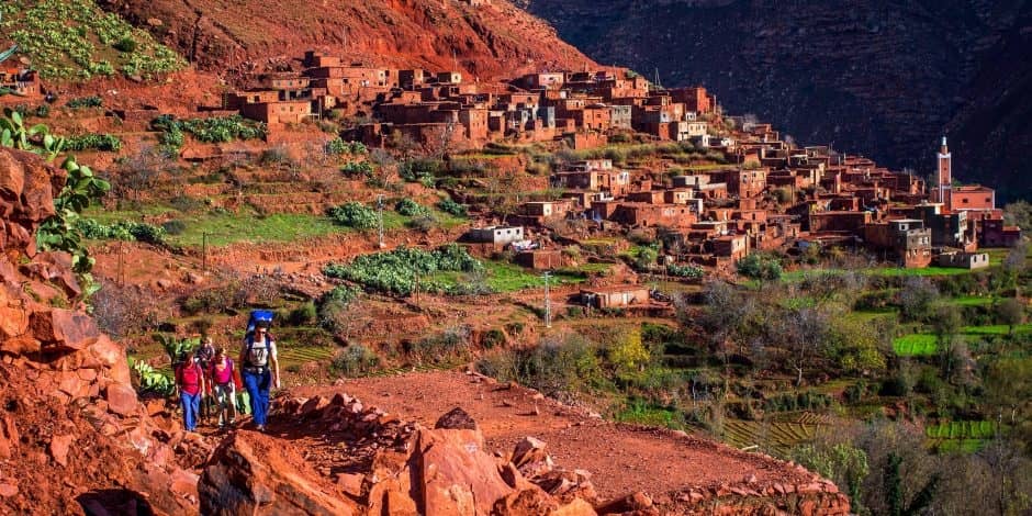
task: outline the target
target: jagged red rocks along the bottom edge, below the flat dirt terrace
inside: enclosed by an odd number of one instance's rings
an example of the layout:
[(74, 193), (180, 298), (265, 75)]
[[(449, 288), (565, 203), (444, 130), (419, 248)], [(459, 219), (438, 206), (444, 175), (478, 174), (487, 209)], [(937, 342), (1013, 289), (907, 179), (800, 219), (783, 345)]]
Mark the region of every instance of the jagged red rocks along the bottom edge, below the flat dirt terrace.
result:
[(281, 399), (273, 412), (269, 435), (239, 431), (215, 451), (199, 485), (203, 514), (849, 514), (833, 484), (805, 471), (811, 484), (752, 489), (744, 479), (686, 490), (674, 505), (643, 493), (602, 501), (591, 473), (558, 467), (540, 440), (490, 453), (461, 410), (434, 429), (345, 394)]

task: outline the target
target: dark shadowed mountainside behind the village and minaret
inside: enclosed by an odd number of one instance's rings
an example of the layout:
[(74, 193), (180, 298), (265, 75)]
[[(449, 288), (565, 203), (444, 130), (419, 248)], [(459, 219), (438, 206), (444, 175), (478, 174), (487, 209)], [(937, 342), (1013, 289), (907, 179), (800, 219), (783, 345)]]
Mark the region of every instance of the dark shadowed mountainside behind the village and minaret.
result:
[(521, 0), (603, 64), (703, 83), (799, 143), (927, 173), (951, 136), (955, 175), (1029, 197), (1032, 4)]

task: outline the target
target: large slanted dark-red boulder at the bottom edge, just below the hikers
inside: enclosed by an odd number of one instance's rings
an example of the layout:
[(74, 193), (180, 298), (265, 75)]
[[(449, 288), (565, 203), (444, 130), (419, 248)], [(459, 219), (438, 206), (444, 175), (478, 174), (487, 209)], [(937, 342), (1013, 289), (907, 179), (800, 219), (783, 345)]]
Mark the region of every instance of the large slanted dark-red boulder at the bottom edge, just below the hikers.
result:
[(318, 474), (292, 464), (281, 445), (238, 431), (215, 450), (198, 483), (201, 514), (214, 516), (361, 514), (358, 505), (323, 491)]

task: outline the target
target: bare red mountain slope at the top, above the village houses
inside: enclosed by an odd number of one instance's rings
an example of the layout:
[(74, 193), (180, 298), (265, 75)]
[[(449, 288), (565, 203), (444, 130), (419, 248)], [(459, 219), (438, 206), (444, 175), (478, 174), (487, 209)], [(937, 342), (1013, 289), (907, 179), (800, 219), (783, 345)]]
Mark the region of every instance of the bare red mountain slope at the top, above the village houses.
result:
[(262, 68), (270, 58), (282, 61), (313, 48), (371, 65), (450, 69), (457, 64), (482, 79), (591, 65), (551, 26), (506, 0), (479, 7), (455, 0), (104, 0), (102, 4), (148, 26), (205, 70)]

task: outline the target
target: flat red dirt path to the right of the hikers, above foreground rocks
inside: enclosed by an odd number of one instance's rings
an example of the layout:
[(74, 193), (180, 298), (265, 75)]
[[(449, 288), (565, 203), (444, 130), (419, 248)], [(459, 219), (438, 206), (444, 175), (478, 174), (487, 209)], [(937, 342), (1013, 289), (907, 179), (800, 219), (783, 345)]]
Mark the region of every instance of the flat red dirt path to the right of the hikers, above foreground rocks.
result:
[(762, 456), (669, 430), (607, 423), (542, 400), (534, 391), (458, 371), (355, 379), (341, 386), (292, 391), (301, 396), (336, 392), (427, 426), (461, 406), (476, 419), (493, 450), (507, 452), (520, 438), (537, 437), (548, 444), (560, 465), (590, 471), (604, 498), (642, 491), (662, 500), (689, 486), (737, 484), (752, 475), (764, 486), (807, 479), (786, 463)]

